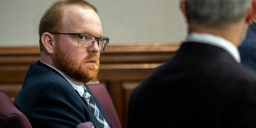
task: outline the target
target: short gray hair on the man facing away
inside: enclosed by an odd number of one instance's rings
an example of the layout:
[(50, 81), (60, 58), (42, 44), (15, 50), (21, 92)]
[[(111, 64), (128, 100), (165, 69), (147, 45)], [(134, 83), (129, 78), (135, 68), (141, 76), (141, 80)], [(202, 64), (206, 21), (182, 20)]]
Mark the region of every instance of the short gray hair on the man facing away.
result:
[(239, 22), (248, 12), (252, 0), (186, 0), (190, 24), (207, 26)]

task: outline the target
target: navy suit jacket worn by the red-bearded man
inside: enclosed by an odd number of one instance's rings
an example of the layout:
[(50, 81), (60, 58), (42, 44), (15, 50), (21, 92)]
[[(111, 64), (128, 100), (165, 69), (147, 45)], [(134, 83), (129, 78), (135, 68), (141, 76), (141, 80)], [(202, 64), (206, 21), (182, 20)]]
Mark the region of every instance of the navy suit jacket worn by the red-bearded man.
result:
[[(104, 108), (93, 95), (105, 120), (111, 127)], [(90, 121), (95, 128), (100, 123), (89, 109), (86, 101), (56, 70), (38, 61), (28, 69), (23, 86), (15, 97), (18, 109), (27, 117), (33, 128), (76, 128)]]

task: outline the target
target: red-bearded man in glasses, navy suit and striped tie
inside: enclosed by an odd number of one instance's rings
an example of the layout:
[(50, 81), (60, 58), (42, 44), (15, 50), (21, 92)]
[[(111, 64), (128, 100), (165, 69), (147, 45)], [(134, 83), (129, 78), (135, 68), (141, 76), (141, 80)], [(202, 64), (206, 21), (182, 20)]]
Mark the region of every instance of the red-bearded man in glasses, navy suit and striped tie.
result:
[(15, 98), (32, 127), (76, 128), (93, 122), (95, 128), (112, 128), (84, 84), (97, 77), (100, 51), (109, 42), (97, 9), (84, 0), (57, 1), (42, 16), (39, 37), (41, 58), (31, 64)]

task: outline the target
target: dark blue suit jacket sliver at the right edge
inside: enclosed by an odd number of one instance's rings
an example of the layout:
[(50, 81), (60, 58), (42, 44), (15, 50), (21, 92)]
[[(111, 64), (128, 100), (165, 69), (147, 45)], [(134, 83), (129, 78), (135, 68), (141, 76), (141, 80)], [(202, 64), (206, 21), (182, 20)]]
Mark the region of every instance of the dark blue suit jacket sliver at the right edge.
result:
[(256, 72), (256, 23), (253, 22), (246, 33), (244, 41), (238, 47), (241, 63)]

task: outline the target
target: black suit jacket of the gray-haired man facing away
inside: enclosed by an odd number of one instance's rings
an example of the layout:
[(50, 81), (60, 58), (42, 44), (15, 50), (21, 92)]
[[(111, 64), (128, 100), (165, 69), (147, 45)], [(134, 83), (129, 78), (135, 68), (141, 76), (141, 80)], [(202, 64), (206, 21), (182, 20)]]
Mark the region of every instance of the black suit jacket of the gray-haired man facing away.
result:
[(184, 42), (132, 93), (128, 128), (256, 128), (256, 74), (226, 50)]

